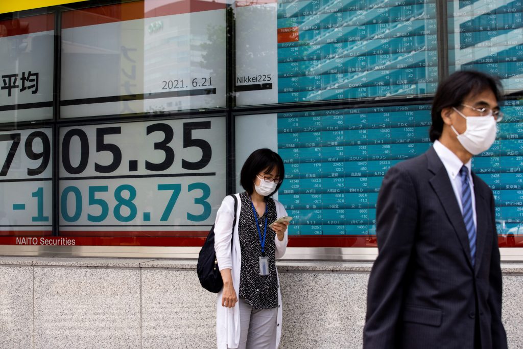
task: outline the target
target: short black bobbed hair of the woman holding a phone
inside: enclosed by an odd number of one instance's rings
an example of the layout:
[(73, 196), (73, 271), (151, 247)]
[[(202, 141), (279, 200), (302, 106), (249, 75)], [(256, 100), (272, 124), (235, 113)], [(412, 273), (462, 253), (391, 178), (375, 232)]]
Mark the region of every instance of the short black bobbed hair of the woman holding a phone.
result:
[[(281, 160), (280, 155), (274, 151), (262, 148), (252, 152), (242, 167), (242, 172), (240, 173), (240, 184), (245, 189), (245, 191), (251, 195), (254, 190), (254, 178), (257, 174), (267, 168), (267, 171), (270, 172), (274, 168), (278, 168), (278, 177), (283, 179), (285, 177), (285, 168), (283, 167), (283, 160)], [(281, 186), (281, 182), (278, 183), (274, 192), (269, 196), (276, 193)]]

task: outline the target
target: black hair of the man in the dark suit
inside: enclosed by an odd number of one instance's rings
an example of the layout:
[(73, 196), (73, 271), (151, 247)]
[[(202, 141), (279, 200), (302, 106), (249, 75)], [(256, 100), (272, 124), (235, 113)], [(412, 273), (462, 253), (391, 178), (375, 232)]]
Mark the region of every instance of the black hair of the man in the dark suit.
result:
[(490, 89), (494, 93), (496, 100), (501, 99), (501, 80), (497, 76), (490, 76), (474, 70), (458, 71), (439, 84), (432, 103), (430, 141), (434, 142), (441, 137), (443, 131), (441, 110), (448, 107), (459, 107), (463, 103), (463, 99), (469, 94), (482, 93), (486, 89)]

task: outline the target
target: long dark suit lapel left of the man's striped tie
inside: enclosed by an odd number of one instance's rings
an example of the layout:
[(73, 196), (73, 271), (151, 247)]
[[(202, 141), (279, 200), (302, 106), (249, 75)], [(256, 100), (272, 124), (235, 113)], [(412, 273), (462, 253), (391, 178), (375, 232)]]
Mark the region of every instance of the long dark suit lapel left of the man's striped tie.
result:
[(428, 159), (428, 170), (434, 173), (434, 177), (429, 179), (430, 185), (438, 196), (452, 227), (454, 227), (454, 232), (458, 235), (458, 240), (463, 252), (467, 257), (467, 261), (469, 261), (469, 266), (472, 268), (469, 235), (467, 234), (463, 215), (456, 200), (456, 194), (454, 194), (454, 190), (452, 189), (447, 170), (433, 148), (430, 148), (425, 154)]

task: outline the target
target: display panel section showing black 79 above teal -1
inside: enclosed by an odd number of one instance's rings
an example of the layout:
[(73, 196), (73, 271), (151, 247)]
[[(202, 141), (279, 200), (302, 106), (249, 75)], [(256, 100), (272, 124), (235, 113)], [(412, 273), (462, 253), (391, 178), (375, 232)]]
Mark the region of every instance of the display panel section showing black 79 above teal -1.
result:
[(0, 132), (0, 236), (52, 235), (52, 130)]

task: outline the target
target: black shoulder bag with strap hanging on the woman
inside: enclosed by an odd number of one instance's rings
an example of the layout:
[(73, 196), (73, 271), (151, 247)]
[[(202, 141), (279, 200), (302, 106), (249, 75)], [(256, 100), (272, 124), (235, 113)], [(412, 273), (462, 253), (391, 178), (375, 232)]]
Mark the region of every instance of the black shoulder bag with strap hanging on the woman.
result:
[[(231, 236), (231, 250), (232, 241), (234, 237), (234, 227), (236, 226), (236, 210), (238, 208), (238, 201), (235, 195), (231, 195), (234, 198), (234, 221), (232, 223), (233, 233)], [(201, 247), (200, 254), (198, 255), (198, 264), (196, 266), (196, 273), (198, 279), (200, 279), (201, 287), (204, 289), (218, 293), (223, 287), (222, 275), (218, 268), (218, 261), (216, 260), (216, 252), (214, 251), (214, 224), (207, 235), (207, 239)]]

